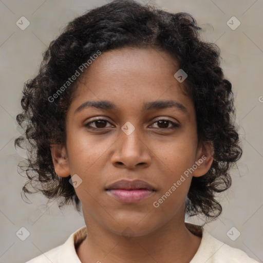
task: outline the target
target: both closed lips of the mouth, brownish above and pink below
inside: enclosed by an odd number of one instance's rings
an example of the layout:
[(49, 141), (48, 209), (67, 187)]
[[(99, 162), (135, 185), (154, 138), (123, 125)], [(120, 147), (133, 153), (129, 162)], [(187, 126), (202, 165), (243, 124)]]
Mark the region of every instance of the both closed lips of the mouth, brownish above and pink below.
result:
[(120, 180), (105, 189), (107, 193), (124, 203), (137, 203), (156, 192), (154, 186), (142, 180)]

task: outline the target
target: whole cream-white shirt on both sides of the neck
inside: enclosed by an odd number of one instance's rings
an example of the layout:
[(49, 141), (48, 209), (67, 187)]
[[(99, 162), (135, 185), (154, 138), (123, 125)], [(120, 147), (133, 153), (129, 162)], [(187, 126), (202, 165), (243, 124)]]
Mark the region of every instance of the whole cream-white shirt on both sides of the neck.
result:
[[(198, 235), (202, 236), (200, 246), (190, 263), (259, 263), (242, 250), (232, 248), (214, 238), (202, 227), (190, 223), (185, 223), (186, 225), (192, 233), (199, 228)], [(63, 245), (53, 248), (26, 263), (82, 263), (76, 253), (76, 246), (86, 238), (86, 235), (87, 229), (84, 226), (72, 233)]]

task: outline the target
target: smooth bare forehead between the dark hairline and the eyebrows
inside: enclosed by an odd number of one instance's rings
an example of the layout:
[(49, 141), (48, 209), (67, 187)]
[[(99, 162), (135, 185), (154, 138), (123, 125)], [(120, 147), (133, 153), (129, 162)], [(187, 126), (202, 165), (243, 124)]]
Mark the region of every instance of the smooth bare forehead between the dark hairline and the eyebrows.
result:
[(79, 80), (76, 108), (85, 101), (107, 100), (135, 107), (145, 106), (148, 101), (171, 99), (189, 107), (191, 101), (182, 92), (183, 84), (174, 78), (178, 69), (170, 54), (152, 48), (104, 52)]

